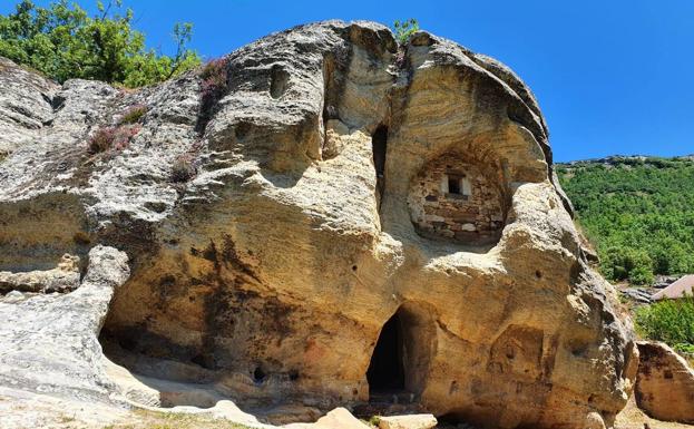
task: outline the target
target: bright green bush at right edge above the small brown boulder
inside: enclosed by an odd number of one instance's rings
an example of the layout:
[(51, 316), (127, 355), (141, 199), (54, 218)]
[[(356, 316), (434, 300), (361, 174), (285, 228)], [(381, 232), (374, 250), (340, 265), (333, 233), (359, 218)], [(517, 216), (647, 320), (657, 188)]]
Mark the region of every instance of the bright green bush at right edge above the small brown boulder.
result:
[(636, 328), (649, 340), (664, 341), (680, 351), (694, 348), (694, 298), (663, 300), (636, 309)]

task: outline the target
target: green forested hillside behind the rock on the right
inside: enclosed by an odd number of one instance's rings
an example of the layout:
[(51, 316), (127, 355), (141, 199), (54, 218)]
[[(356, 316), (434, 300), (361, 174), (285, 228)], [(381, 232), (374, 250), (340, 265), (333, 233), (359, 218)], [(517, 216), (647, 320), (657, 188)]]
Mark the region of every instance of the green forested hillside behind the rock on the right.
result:
[(557, 173), (606, 277), (694, 272), (694, 157), (610, 157)]

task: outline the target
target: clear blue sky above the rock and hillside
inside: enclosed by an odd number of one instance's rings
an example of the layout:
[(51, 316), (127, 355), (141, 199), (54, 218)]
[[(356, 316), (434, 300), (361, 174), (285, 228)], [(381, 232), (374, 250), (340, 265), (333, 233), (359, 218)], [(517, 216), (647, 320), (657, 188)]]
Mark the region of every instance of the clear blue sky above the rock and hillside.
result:
[[(35, 0), (38, 4), (48, 1)], [(94, 9), (95, 1), (80, 0)], [(0, 0), (0, 13), (14, 0)], [(172, 49), (176, 21), (217, 57), (264, 35), (323, 19), (422, 29), (508, 66), (532, 88), (556, 160), (694, 153), (694, 1), (124, 0), (150, 46)]]

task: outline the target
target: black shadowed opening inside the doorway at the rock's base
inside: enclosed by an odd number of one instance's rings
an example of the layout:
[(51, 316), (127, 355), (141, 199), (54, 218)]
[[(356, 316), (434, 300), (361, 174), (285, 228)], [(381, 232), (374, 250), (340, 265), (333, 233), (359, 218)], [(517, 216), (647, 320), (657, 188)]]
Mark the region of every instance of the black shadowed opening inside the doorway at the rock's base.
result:
[(393, 314), (383, 325), (366, 371), (369, 393), (404, 390), (403, 335), (400, 315)]

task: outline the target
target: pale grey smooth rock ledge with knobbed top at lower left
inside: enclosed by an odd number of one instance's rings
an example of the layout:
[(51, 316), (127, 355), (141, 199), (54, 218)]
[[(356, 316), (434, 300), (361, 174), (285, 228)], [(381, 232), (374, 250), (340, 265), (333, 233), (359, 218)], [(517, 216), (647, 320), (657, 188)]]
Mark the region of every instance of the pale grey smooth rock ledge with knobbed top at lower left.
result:
[(114, 390), (98, 335), (114, 290), (128, 275), (125, 253), (95, 246), (75, 292), (9, 303), (0, 299), (0, 386), (82, 400), (108, 399)]

